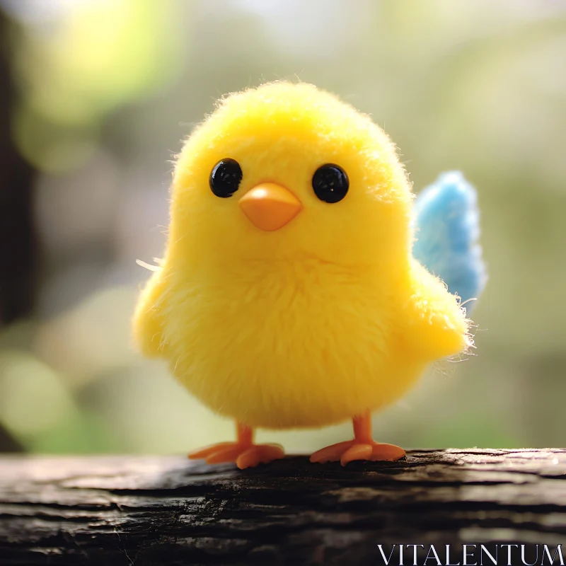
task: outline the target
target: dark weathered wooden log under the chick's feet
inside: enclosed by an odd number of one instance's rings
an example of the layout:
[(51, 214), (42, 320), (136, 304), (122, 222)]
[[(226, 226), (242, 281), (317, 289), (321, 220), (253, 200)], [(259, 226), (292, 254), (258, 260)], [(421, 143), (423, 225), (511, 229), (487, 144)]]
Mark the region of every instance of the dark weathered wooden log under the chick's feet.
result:
[(248, 470), (180, 456), (3, 456), (0, 564), (377, 565), (379, 544), (555, 548), (565, 480), (562, 449), (415, 450), (345, 468), (293, 456)]

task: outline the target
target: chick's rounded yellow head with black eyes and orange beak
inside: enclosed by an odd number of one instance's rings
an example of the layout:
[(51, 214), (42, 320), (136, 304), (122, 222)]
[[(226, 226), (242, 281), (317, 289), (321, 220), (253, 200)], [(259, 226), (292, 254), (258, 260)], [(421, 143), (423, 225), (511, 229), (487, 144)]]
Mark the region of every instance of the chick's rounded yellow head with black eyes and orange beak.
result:
[(385, 266), (408, 257), (411, 200), (395, 146), (368, 116), (310, 84), (267, 83), (221, 100), (187, 139), (169, 255)]

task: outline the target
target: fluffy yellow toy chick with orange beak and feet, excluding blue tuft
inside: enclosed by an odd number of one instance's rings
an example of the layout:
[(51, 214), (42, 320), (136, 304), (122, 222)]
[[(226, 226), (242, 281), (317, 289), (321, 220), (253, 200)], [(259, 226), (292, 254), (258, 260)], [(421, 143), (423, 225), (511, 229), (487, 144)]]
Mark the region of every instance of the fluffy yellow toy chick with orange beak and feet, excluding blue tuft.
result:
[(371, 119), (305, 83), (220, 101), (178, 156), (161, 268), (141, 293), (137, 344), (236, 422), (190, 454), (239, 468), (284, 456), (257, 427), (347, 419), (354, 439), (312, 462), (395, 460), (371, 411), (471, 341), (456, 296), (412, 258), (412, 192)]

